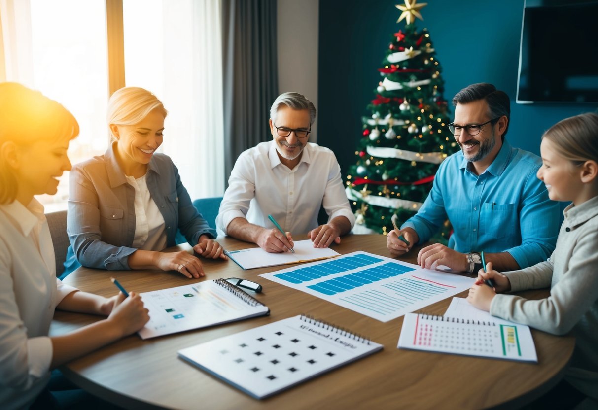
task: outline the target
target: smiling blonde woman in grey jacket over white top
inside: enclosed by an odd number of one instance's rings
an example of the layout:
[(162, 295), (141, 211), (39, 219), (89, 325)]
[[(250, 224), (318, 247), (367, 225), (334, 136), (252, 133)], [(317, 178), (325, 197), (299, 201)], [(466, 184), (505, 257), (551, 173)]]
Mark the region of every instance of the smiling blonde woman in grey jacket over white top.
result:
[(199, 255), (227, 259), (172, 160), (155, 153), (164, 139), (166, 115), (160, 100), (144, 88), (124, 87), (110, 97), (111, 145), (104, 155), (75, 165), (70, 175), (69, 271), (76, 258), (92, 268), (205, 276), (196, 256), (161, 252), (175, 245), (177, 229)]

